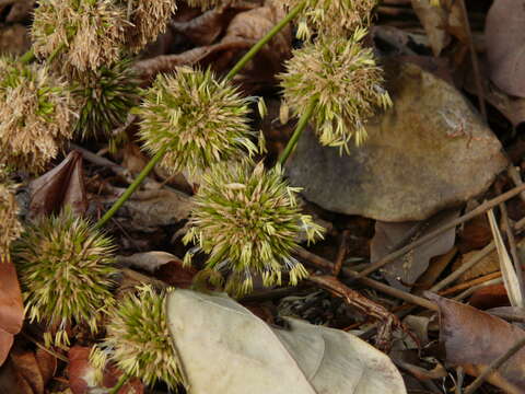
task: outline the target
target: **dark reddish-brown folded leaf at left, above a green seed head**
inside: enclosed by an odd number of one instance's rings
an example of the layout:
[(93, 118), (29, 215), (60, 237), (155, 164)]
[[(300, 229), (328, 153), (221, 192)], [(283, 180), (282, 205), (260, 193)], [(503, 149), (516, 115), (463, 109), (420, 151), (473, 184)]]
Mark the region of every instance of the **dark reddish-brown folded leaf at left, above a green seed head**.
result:
[(72, 151), (62, 162), (30, 184), (30, 218), (57, 213), (70, 206), (82, 216), (88, 208), (82, 153)]

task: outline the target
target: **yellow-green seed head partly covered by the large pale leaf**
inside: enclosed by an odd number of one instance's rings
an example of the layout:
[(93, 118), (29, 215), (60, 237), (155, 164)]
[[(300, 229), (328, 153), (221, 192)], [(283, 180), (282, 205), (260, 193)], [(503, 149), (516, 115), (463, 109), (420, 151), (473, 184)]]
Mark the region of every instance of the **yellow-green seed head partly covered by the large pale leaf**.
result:
[(147, 385), (164, 381), (174, 389), (183, 384), (165, 314), (166, 291), (142, 286), (109, 311), (106, 338), (92, 352), (95, 367), (114, 362), (125, 373)]

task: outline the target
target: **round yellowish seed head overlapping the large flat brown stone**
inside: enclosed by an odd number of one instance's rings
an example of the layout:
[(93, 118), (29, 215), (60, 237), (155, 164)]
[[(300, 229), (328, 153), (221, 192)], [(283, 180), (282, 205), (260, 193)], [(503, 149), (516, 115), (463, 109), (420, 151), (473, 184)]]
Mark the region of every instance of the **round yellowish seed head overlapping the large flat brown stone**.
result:
[(383, 89), (383, 70), (371, 48), (360, 40), (366, 31), (358, 28), (352, 39), (323, 37), (295, 50), (287, 62), (281, 85), (284, 105), (301, 116), (316, 100), (311, 123), (322, 144), (348, 151), (354, 139), (366, 138), (366, 120), (377, 109), (392, 106)]

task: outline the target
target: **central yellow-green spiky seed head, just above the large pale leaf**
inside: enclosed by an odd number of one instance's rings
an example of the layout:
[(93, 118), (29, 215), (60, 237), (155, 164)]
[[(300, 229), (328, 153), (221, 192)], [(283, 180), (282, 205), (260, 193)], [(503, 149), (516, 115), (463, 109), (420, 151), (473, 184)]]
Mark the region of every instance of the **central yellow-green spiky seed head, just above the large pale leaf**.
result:
[(298, 188), (290, 187), (281, 169), (255, 167), (248, 162), (215, 165), (202, 177), (194, 197), (190, 230), (185, 243), (197, 246), (185, 256), (189, 264), (195, 252), (209, 255), (208, 269), (231, 270), (226, 285), (237, 296), (253, 288), (253, 274), (265, 286), (280, 285), (283, 273), (296, 285), (308, 273), (292, 257), (298, 237), (308, 241), (323, 234), (323, 228), (301, 213), (295, 201)]

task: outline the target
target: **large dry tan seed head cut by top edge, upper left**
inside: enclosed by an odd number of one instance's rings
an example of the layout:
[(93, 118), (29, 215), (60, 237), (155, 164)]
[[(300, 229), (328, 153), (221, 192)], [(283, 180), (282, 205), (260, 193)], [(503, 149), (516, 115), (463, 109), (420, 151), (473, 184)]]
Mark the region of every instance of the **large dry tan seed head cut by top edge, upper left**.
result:
[[(33, 48), (68, 74), (97, 70), (118, 60), (126, 8), (114, 0), (40, 0), (32, 26)], [(80, 71), (80, 73), (79, 73)]]

